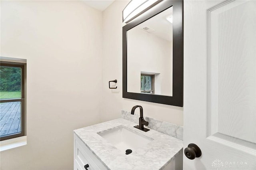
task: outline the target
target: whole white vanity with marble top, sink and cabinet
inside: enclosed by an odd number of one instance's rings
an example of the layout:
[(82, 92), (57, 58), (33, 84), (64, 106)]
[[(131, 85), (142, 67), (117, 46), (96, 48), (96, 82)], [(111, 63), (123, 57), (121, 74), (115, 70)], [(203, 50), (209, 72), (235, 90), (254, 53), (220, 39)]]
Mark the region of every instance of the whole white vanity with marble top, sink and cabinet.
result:
[[(88, 164), (88, 170), (182, 170), (182, 140), (153, 129), (144, 132), (135, 125), (119, 118), (75, 129), (74, 169), (86, 170)], [(133, 152), (126, 155), (129, 148)]]

